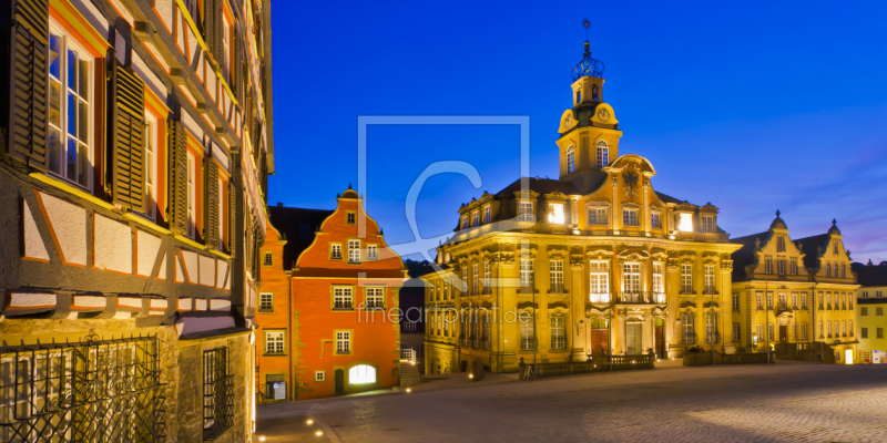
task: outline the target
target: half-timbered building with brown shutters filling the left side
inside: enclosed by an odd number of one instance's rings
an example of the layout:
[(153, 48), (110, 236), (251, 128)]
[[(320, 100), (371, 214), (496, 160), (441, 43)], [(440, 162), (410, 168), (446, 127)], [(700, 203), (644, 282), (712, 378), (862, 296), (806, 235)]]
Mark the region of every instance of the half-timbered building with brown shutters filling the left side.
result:
[(268, 0), (0, 11), (0, 442), (251, 441)]

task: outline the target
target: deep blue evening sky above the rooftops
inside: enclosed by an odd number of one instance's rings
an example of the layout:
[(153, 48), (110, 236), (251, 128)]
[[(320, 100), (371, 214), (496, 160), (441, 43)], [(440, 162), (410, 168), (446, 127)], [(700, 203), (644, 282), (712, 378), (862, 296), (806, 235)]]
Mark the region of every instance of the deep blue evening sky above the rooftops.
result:
[[(591, 21), (621, 154), (656, 190), (721, 208), (733, 237), (774, 212), (794, 238), (837, 218), (857, 261), (887, 260), (887, 2), (273, 2), (269, 199), (334, 208), (357, 185), (359, 115), (527, 115), (530, 175), (558, 177), (554, 141)], [(461, 203), (519, 177), (518, 126), (370, 126), (366, 207), (389, 245), (451, 233)], [(414, 257), (416, 258), (416, 257)]]

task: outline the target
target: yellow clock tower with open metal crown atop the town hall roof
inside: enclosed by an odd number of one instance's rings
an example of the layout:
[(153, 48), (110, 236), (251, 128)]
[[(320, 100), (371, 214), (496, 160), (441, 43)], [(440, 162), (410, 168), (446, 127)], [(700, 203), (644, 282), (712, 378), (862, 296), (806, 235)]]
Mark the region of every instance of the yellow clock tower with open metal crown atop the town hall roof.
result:
[[(589, 27), (585, 21), (585, 29)], [(590, 43), (573, 69), (573, 106), (561, 115), (558, 132), (560, 178), (582, 193), (597, 189), (606, 179), (603, 171), (619, 156), (619, 121), (603, 101), (603, 62), (592, 59)]]

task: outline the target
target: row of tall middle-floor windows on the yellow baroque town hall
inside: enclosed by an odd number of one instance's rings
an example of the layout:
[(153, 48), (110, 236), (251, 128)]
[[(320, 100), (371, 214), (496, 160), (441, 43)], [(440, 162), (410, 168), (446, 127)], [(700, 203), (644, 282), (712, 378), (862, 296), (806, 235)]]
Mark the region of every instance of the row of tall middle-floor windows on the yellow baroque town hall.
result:
[[(549, 293), (563, 293), (564, 292), (564, 277), (563, 277), (563, 260), (549, 260)], [(659, 261), (653, 262), (652, 279), (650, 281), (650, 290), (643, 290), (646, 286), (642, 281), (643, 272), (641, 264), (639, 262), (624, 262), (621, 266), (621, 281), (622, 287), (618, 295), (622, 302), (663, 302), (665, 286), (664, 286), (664, 265)], [(536, 288), (536, 265), (534, 260), (521, 259), (520, 260), (520, 279), (519, 290), (534, 291)], [(610, 287), (611, 272), (610, 261), (606, 260), (591, 260), (589, 261), (589, 295), (592, 302), (608, 303), (611, 301), (612, 289)], [(498, 279), (495, 281), (491, 278), (489, 261), (483, 262), (483, 271), (480, 272), (480, 265), (472, 264), (470, 276), (467, 267), (462, 268), (461, 282), (456, 277), (450, 277), (446, 281), (436, 282), (434, 288), (429, 288), (429, 301), (440, 301), (456, 299), (457, 286), (466, 285), (465, 293), (471, 296), (489, 295), (492, 293), (492, 286), (498, 286)], [(681, 293), (695, 293), (693, 281), (693, 265), (681, 265)], [(703, 266), (703, 293), (713, 295), (717, 293), (717, 278), (714, 265)]]

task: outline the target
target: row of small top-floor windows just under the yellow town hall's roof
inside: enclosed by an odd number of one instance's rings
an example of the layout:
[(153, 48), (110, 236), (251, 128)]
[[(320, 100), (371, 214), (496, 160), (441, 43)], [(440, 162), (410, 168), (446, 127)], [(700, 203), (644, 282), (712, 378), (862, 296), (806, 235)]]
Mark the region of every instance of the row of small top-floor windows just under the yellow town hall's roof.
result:
[[(585, 206), (587, 218), (585, 223), (589, 227), (593, 226), (610, 226), (610, 204), (604, 202), (593, 202)], [(469, 215), (462, 215), (461, 228), (468, 229), (481, 225), (481, 210), (483, 212), (483, 224), (488, 225), (492, 222), (491, 207), (483, 206), (481, 209), (475, 210)], [(641, 226), (641, 208), (636, 206), (623, 206), (622, 208), (622, 226), (624, 227), (640, 227)], [(519, 222), (536, 222), (536, 210), (533, 202), (518, 202), (518, 220)], [(716, 229), (714, 215), (700, 216), (702, 223), (701, 231), (714, 233)], [(693, 231), (693, 214), (679, 213), (676, 215), (677, 230), (692, 233)], [(548, 204), (548, 223), (563, 225), (565, 219), (565, 207), (563, 203), (549, 203)], [(572, 220), (577, 223), (575, 219)], [(663, 213), (662, 210), (650, 209), (650, 227), (653, 229), (663, 229)]]

